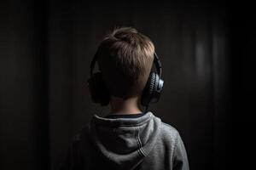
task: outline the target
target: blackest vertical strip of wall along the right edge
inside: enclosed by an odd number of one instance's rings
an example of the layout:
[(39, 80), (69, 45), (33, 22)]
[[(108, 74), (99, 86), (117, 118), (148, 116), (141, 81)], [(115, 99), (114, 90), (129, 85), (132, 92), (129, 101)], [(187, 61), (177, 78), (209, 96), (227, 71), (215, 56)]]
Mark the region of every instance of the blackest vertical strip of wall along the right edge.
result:
[(229, 39), (232, 90), (232, 164), (237, 169), (254, 166), (255, 140), (255, 39), (256, 20), (252, 3), (234, 2), (230, 7)]

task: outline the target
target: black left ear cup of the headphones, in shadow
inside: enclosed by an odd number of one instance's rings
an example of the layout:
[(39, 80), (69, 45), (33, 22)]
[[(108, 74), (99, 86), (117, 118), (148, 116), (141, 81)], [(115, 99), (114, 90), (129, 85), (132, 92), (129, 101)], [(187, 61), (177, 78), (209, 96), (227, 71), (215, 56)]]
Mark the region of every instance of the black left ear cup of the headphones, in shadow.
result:
[(94, 73), (88, 80), (88, 86), (91, 100), (94, 103), (100, 103), (102, 106), (108, 105), (109, 92), (105, 82), (102, 79), (102, 72)]

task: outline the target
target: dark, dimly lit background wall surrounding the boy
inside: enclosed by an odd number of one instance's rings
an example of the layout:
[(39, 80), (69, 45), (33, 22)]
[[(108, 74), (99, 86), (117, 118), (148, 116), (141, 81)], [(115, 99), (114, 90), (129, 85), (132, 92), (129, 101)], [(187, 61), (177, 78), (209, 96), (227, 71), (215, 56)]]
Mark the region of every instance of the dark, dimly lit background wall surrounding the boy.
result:
[[(2, 5), (3, 4), (3, 5)], [(165, 88), (149, 110), (180, 132), (190, 169), (249, 167), (253, 7), (225, 1), (1, 4), (0, 169), (57, 169), (91, 103), (90, 59), (114, 26), (154, 42)], [(244, 130), (245, 129), (245, 130)], [(233, 167), (233, 168), (234, 168)]]

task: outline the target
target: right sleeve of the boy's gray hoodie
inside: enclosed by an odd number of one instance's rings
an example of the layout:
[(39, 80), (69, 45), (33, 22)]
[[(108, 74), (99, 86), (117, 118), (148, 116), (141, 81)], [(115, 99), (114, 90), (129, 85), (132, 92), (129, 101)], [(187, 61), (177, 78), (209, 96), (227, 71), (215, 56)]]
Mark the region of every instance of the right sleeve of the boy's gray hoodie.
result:
[(177, 133), (173, 153), (173, 170), (189, 170), (189, 161), (183, 140)]

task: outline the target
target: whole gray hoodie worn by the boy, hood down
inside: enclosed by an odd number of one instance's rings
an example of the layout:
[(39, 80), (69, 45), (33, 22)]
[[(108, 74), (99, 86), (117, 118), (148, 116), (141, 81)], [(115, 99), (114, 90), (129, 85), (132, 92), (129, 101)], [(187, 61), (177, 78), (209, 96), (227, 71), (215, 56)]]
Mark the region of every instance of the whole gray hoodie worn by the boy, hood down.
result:
[(148, 111), (136, 118), (94, 115), (61, 169), (189, 170), (189, 162), (177, 130)]

